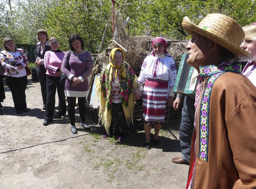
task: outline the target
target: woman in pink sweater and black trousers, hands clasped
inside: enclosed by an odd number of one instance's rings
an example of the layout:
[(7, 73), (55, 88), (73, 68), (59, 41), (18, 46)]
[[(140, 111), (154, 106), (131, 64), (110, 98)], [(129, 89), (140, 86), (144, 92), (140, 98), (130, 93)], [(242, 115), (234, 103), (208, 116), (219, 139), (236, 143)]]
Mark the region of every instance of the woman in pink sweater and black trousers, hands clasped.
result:
[(66, 118), (66, 99), (64, 86), (61, 85), (60, 76), (62, 74), (61, 64), (65, 52), (59, 50), (59, 41), (56, 37), (51, 37), (49, 39), (51, 51), (47, 51), (44, 55), (44, 67), (46, 68), (46, 108), (44, 114), (43, 125), (48, 125), (53, 118), (54, 107), (55, 107), (55, 94), (56, 89), (58, 91), (59, 97), (59, 109), (58, 114), (61, 118)]

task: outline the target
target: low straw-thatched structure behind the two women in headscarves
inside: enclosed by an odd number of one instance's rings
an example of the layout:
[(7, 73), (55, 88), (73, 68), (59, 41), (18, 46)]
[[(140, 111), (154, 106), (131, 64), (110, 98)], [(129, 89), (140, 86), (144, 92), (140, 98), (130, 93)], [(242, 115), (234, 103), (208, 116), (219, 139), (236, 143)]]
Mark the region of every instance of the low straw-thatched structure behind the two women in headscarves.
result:
[[(143, 60), (147, 55), (152, 51), (151, 42), (155, 37), (152, 36), (136, 36), (136, 37), (125, 37), (125, 39), (111, 40), (105, 47), (105, 50), (101, 52), (95, 60), (94, 72), (92, 79), (90, 81), (91, 88), (93, 87), (94, 76), (97, 73), (101, 73), (105, 69), (106, 65), (109, 63), (109, 54), (112, 48), (122, 48), (125, 52), (125, 61), (131, 65), (133, 70), (137, 75), (140, 73), (140, 69), (143, 63)], [(166, 38), (166, 37), (165, 37)], [(174, 41), (168, 40), (168, 49), (167, 51), (173, 57), (177, 65), (177, 70), (179, 68), (179, 63), (181, 60), (182, 54), (186, 53), (186, 45), (188, 41)], [(90, 99), (91, 91), (89, 93)], [(92, 97), (94, 98), (94, 97)], [(173, 107), (170, 107), (169, 119), (177, 119), (181, 116), (181, 109), (183, 106), (183, 101), (180, 105), (178, 111), (174, 111)], [(94, 108), (94, 117), (97, 119), (97, 108)], [(134, 126), (137, 130), (143, 129), (143, 116), (142, 116), (142, 100), (138, 100), (134, 109)]]

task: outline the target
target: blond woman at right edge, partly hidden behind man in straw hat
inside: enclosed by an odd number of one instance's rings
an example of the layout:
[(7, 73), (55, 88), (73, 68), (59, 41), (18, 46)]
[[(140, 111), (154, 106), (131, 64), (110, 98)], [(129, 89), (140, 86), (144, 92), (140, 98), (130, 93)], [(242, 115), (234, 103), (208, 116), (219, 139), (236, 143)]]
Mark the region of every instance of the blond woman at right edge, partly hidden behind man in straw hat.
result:
[(246, 64), (242, 74), (256, 86), (256, 23), (242, 28), (245, 32), (245, 38), (240, 47), (253, 55), (253, 60)]

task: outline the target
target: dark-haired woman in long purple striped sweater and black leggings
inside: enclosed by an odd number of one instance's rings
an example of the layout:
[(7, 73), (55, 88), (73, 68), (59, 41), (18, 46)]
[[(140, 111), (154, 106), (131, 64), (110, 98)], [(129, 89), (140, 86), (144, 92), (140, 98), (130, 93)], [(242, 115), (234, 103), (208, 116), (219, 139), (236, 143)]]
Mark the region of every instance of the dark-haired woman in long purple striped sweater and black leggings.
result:
[[(70, 57), (68, 57), (69, 52), (66, 52), (61, 69), (67, 77), (64, 89), (68, 99), (68, 116), (71, 124), (71, 133), (76, 134), (76, 97), (78, 98), (81, 126), (85, 129), (91, 129), (85, 124), (85, 102), (89, 89), (87, 78), (92, 74), (93, 63), (91, 54), (84, 51), (84, 41), (79, 35), (72, 34), (68, 42), (71, 50)], [(69, 67), (69, 69), (67, 69), (67, 67)]]

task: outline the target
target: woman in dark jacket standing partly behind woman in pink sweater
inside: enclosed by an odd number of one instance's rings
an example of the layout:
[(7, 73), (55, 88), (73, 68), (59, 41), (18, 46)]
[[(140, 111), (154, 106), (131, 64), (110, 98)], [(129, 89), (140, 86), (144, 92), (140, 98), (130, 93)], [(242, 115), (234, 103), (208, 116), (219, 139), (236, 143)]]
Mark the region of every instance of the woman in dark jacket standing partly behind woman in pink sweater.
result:
[(44, 68), (44, 54), (46, 51), (50, 51), (50, 43), (48, 41), (48, 34), (44, 29), (39, 29), (36, 33), (38, 43), (36, 44), (36, 73), (41, 86), (41, 93), (43, 98), (43, 110), (46, 105), (46, 69)]

